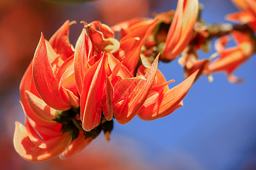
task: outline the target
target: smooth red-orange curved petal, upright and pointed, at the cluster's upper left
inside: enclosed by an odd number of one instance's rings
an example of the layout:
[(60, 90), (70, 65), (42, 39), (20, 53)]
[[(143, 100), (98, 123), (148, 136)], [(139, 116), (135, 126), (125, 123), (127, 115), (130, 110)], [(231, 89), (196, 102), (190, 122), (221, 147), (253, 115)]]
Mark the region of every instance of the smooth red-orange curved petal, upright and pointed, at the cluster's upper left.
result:
[(43, 33), (33, 59), (32, 74), (36, 90), (46, 104), (60, 111), (71, 108), (71, 105), (65, 103), (61, 98), (59, 83), (56, 80), (51, 63), (47, 57)]

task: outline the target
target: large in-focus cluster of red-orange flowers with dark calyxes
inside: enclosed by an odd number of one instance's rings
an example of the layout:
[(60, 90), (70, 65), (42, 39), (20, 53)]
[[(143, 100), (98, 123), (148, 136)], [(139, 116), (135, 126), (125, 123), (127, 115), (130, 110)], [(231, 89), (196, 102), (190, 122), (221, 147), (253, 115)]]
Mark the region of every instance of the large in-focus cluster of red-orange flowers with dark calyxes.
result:
[[(101, 22), (85, 23), (75, 49), (69, 44), (69, 21), (51, 37), (41, 35), (34, 58), (20, 83), (26, 124), (15, 123), (14, 147), (22, 158), (66, 159), (104, 131), (109, 141), (113, 118), (126, 124), (167, 116), (183, 105), (195, 77), (171, 90), (142, 46), (158, 20), (146, 20), (120, 41)], [(139, 60), (142, 64), (138, 64)], [(56, 147), (57, 146), (57, 147)]]

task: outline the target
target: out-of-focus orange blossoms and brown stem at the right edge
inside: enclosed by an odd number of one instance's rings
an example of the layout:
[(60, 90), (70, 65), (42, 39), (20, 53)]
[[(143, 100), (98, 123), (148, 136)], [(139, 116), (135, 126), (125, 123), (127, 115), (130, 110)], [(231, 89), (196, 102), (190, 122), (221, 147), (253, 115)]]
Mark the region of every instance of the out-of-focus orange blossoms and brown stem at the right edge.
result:
[[(179, 58), (179, 64), (184, 67), (185, 78), (199, 70), (196, 79), (200, 75), (208, 75), (208, 80), (211, 82), (213, 80), (212, 73), (223, 71), (227, 74), (230, 83), (242, 82), (242, 79), (237, 78), (232, 73), (255, 53), (256, 3), (254, 0), (232, 1), (243, 11), (229, 14), (226, 19), (243, 25), (231, 25), (229, 23), (209, 25), (198, 16), (192, 38), (188, 45), (183, 48)], [(197, 50), (201, 49), (208, 52), (209, 42), (214, 37), (218, 38), (214, 45), (216, 53), (213, 53), (209, 58), (200, 59)], [(233, 37), (236, 46), (226, 47), (229, 37)], [(213, 60), (213, 58), (216, 59)]]

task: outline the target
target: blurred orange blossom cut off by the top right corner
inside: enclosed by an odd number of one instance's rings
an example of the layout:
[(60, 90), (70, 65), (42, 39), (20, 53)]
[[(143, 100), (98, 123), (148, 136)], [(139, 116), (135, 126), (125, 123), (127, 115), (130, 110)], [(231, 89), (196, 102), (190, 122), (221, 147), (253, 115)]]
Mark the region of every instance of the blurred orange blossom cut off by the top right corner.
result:
[(247, 23), (253, 31), (256, 31), (256, 1), (255, 0), (233, 0), (242, 11), (226, 16), (226, 19), (233, 22)]

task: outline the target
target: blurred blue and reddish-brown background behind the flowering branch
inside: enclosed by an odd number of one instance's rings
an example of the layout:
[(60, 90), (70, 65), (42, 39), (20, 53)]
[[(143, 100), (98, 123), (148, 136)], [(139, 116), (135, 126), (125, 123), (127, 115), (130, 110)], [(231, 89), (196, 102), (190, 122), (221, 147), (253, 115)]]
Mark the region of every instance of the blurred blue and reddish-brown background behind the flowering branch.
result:
[[(199, 0), (207, 23), (226, 22), (238, 9), (231, 1)], [(65, 20), (76, 20), (70, 40), (75, 46), (81, 20), (113, 25), (137, 16), (176, 8), (177, 0), (98, 0), (52, 3), (43, 0), (0, 1), (0, 169), (256, 169), (255, 54), (234, 74), (244, 78), (230, 84), (224, 74), (214, 81), (201, 77), (188, 92), (184, 106), (154, 121), (134, 118), (126, 125), (114, 122), (111, 141), (101, 134), (71, 159), (30, 163), (13, 147), (14, 122), (24, 122), (19, 104), (19, 82), (34, 56), (40, 32), (49, 39)], [(234, 45), (234, 44), (230, 44)], [(208, 58), (214, 50), (200, 57)], [(177, 64), (159, 63), (174, 87), (183, 80)]]

